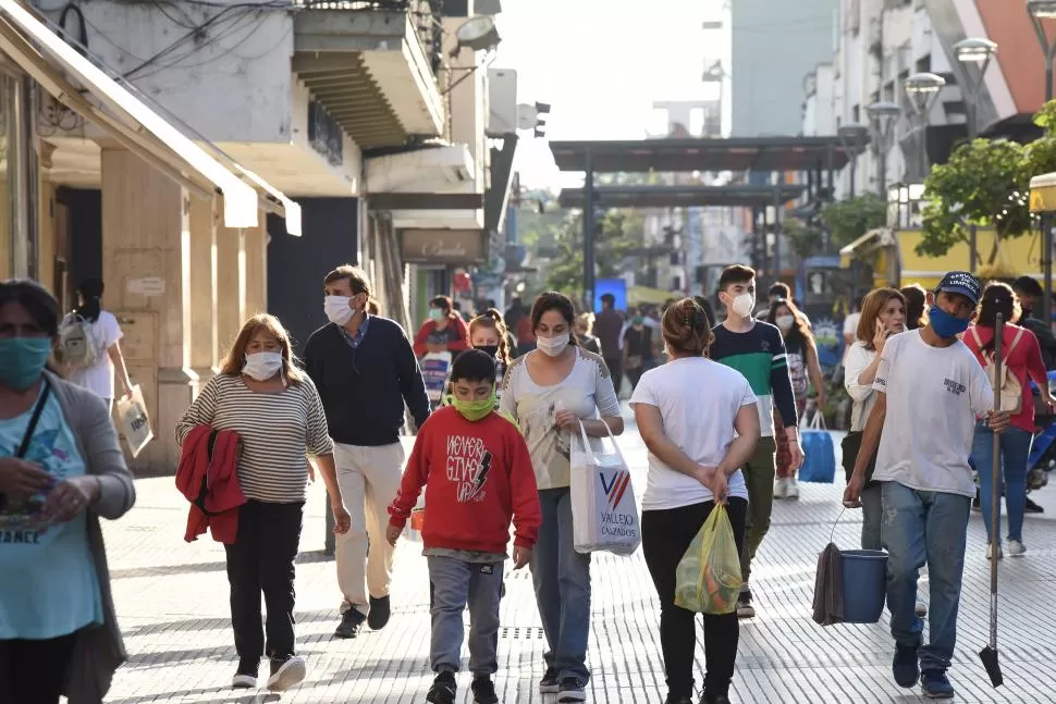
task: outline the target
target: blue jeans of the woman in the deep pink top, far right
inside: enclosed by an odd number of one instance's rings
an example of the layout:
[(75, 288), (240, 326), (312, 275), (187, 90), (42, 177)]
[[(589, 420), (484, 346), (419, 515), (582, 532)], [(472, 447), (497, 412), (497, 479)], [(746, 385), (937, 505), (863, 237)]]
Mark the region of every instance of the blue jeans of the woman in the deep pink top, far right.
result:
[[(1027, 510), (1027, 458), (1034, 436), (1022, 428), (1009, 427), (1000, 434), (1000, 464), (1005, 483), (1005, 505), (1008, 510), (1008, 540), (1023, 540), (1023, 512)], [(994, 491), (994, 431), (985, 423), (975, 425), (972, 460), (979, 473), (979, 503), (991, 535), (992, 492)], [(999, 491), (999, 490), (998, 490)], [(997, 536), (1000, 538), (1000, 511), (997, 512)]]

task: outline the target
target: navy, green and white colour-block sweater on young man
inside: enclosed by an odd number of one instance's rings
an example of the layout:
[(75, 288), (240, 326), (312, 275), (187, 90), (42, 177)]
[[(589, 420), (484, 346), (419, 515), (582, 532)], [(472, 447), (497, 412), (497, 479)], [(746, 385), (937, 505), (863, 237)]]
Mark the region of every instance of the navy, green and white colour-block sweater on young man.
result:
[(774, 408), (785, 428), (796, 428), (796, 396), (788, 378), (785, 341), (775, 325), (756, 321), (751, 330), (732, 332), (723, 324), (712, 329), (715, 342), (711, 358), (745, 375), (759, 399), (759, 429), (763, 437), (774, 435)]

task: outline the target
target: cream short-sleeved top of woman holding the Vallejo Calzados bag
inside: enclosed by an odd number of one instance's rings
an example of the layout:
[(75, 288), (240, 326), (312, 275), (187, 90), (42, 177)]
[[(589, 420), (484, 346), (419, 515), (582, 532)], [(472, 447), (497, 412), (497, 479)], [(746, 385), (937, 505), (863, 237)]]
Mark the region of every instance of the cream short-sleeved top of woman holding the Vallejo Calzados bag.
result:
[[(576, 363), (564, 381), (552, 386), (537, 384), (525, 361), (542, 354), (531, 351), (509, 365), (499, 407), (520, 425), (536, 470), (536, 486), (562, 489), (570, 484), (572, 435), (554, 428), (554, 413), (564, 408), (579, 418), (595, 418), (599, 411), (612, 418), (619, 416), (619, 400), (604, 360), (581, 347), (576, 348)], [(595, 447), (600, 449), (600, 445)]]

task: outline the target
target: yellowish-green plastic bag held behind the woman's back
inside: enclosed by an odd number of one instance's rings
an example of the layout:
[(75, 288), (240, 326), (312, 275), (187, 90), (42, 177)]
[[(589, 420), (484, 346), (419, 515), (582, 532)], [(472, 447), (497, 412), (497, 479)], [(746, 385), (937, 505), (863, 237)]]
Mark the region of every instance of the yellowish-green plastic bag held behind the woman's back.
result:
[(740, 555), (726, 507), (712, 509), (675, 569), (675, 606), (732, 614), (740, 595)]

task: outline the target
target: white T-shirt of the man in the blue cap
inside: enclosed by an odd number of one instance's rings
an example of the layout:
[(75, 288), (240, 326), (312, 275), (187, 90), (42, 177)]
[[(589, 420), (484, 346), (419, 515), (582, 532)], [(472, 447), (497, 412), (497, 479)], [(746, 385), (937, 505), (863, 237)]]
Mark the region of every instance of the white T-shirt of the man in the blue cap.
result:
[(960, 341), (932, 347), (919, 330), (899, 333), (884, 345), (873, 387), (887, 394), (873, 479), (974, 497), (968, 456), (975, 417), (993, 409), (994, 393), (971, 350)]

